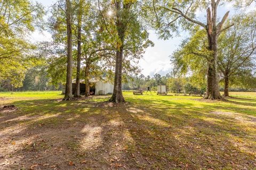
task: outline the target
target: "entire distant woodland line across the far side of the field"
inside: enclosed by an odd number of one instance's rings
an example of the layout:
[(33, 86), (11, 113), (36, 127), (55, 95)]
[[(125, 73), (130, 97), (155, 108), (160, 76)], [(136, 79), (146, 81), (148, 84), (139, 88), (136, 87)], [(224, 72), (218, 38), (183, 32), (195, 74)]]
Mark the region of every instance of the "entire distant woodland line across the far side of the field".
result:
[[(250, 74), (239, 75), (231, 79), (229, 84), (229, 91), (256, 91), (256, 77), (251, 72)], [(84, 76), (81, 76), (82, 78)], [(201, 80), (200, 80), (201, 79)], [(246, 80), (246, 81), (244, 81)], [(154, 74), (153, 77), (149, 75), (146, 77), (143, 74), (132, 75), (123, 81), (122, 90), (150, 90), (156, 91), (158, 85), (166, 85), (167, 91), (175, 94), (204, 94), (206, 91), (206, 79), (195, 75), (191, 77), (184, 77), (174, 72), (166, 75)], [(57, 86), (51, 83), (51, 79), (47, 75), (45, 66), (36, 66), (26, 72), (25, 79), (22, 86), (15, 88), (15, 91), (45, 91), (45, 90), (62, 90), (63, 84), (59, 83)], [(227, 85), (225, 80), (220, 81), (220, 91), (225, 94)], [(11, 91), (12, 86), (9, 80), (2, 81), (1, 91)]]

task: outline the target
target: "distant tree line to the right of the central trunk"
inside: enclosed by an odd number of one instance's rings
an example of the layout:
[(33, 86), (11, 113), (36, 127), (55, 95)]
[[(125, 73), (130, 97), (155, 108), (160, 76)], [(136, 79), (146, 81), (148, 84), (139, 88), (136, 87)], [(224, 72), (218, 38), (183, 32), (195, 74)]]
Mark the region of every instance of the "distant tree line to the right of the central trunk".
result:
[[(154, 74), (153, 77), (149, 75), (145, 77), (143, 74), (139, 76), (131, 77), (123, 84), (123, 90), (150, 90), (156, 91), (158, 85), (166, 85), (167, 91), (171, 93), (196, 93), (204, 94), (206, 92), (206, 80), (200, 82), (200, 80), (194, 80), (195, 77), (181, 77), (175, 75), (173, 72), (161, 76), (160, 74)], [(229, 85), (230, 91), (256, 91), (256, 77), (249, 77), (244, 81), (243, 78), (237, 79), (235, 82), (231, 82)], [(225, 81), (220, 82), (220, 91), (225, 92)]]

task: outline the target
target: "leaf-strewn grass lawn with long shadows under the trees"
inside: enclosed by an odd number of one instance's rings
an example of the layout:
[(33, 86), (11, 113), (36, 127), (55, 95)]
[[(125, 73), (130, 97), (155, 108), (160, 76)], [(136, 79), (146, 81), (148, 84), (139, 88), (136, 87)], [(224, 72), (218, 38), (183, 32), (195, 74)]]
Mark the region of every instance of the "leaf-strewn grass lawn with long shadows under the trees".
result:
[(256, 169), (256, 93), (230, 95), (0, 93), (0, 169)]

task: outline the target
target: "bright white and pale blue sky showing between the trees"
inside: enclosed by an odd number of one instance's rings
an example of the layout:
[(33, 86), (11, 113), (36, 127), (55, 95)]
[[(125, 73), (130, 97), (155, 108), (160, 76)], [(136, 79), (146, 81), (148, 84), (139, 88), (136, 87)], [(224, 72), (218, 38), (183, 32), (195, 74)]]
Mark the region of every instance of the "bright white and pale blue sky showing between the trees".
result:
[[(46, 8), (51, 4), (56, 2), (56, 0), (34, 0), (42, 3)], [(218, 10), (218, 16), (223, 16), (227, 11), (230, 11), (230, 16), (235, 14), (236, 11), (232, 8), (231, 4), (225, 5), (225, 7), (220, 7)], [(205, 11), (198, 11), (196, 13), (198, 20), (205, 20)], [(179, 37), (170, 38), (169, 40), (158, 39), (158, 36), (154, 31), (149, 32), (149, 39), (154, 42), (154, 47), (149, 47), (146, 49), (146, 53), (143, 58), (139, 61), (139, 66), (141, 73), (145, 76), (150, 75), (151, 77), (155, 73), (165, 75), (172, 71), (172, 63), (170, 61), (170, 55), (175, 49), (179, 47), (181, 41), (188, 37), (188, 33), (181, 32)], [(49, 32), (44, 31), (39, 33), (35, 31), (30, 36), (32, 41), (43, 41), (50, 40), (51, 35)]]

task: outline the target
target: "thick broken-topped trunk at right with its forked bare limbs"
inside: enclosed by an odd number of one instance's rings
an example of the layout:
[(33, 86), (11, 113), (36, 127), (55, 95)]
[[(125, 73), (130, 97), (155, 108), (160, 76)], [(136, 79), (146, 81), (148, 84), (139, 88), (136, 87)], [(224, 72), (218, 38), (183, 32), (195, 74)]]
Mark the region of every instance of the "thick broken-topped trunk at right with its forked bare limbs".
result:
[[(207, 90), (205, 99), (221, 99), (220, 90), (219, 90), (219, 81), (217, 74), (217, 51), (218, 51), (218, 37), (223, 30), (227, 30), (233, 24), (222, 29), (223, 24), (228, 18), (229, 11), (223, 16), (222, 20), (217, 24), (217, 8), (220, 3), (220, 0), (211, 0), (211, 8), (207, 8), (207, 24), (189, 18), (186, 13), (183, 13), (182, 10), (179, 10), (175, 6), (170, 10), (174, 12), (189, 22), (201, 25), (207, 31), (208, 49), (212, 52), (212, 55), (207, 57)], [(187, 9), (188, 11), (189, 9)]]

